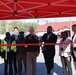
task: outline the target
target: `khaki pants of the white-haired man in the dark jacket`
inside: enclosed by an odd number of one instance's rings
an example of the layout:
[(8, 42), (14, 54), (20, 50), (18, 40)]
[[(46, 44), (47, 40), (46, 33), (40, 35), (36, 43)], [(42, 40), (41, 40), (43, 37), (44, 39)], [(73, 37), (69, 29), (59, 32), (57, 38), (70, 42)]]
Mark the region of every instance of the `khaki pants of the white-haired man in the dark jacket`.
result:
[(36, 75), (36, 52), (27, 52), (27, 72), (26, 75), (31, 75), (31, 67), (32, 67), (32, 75)]

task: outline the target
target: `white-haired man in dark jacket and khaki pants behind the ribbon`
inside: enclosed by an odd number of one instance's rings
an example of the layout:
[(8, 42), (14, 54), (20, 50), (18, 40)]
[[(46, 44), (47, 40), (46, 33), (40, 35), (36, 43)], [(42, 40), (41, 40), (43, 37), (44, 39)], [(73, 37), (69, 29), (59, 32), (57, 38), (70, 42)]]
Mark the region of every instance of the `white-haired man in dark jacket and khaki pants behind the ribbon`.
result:
[(29, 34), (26, 36), (25, 43), (30, 44), (27, 46), (27, 53), (26, 53), (26, 64), (27, 64), (27, 71), (26, 75), (31, 75), (31, 66), (32, 66), (32, 75), (36, 75), (36, 60), (37, 56), (39, 55), (40, 48), (39, 45), (32, 46), (32, 44), (39, 44), (38, 37), (34, 34), (34, 28), (30, 27)]

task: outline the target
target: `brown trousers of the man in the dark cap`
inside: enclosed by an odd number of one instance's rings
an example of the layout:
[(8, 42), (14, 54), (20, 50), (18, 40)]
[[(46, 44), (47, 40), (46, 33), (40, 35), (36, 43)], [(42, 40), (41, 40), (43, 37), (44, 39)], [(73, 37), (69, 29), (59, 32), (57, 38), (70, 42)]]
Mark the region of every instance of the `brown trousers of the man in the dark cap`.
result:
[(18, 53), (17, 61), (18, 61), (18, 74), (20, 74), (22, 71), (22, 61), (23, 61), (25, 73), (26, 73), (26, 54)]

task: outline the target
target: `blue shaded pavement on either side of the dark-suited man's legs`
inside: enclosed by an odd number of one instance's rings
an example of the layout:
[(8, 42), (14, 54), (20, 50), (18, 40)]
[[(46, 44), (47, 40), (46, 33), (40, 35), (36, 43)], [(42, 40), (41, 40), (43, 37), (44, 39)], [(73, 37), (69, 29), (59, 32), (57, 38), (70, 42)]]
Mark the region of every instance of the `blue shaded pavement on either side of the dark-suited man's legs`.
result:
[[(37, 75), (47, 75), (45, 63), (37, 63)], [(54, 63), (54, 75), (62, 75), (62, 67)]]

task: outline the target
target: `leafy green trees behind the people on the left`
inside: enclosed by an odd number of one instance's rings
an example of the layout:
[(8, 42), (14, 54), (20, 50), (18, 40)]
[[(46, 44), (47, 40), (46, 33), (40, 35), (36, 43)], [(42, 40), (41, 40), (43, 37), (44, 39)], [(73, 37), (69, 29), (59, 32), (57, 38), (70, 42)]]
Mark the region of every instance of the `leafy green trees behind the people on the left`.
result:
[(19, 31), (28, 32), (31, 26), (34, 27), (35, 30), (41, 26), (38, 23), (24, 23), (20, 20), (10, 21), (9, 23), (7, 23), (7, 21), (0, 21), (0, 25), (2, 34), (4, 34), (6, 31), (13, 32), (14, 27), (18, 27)]

